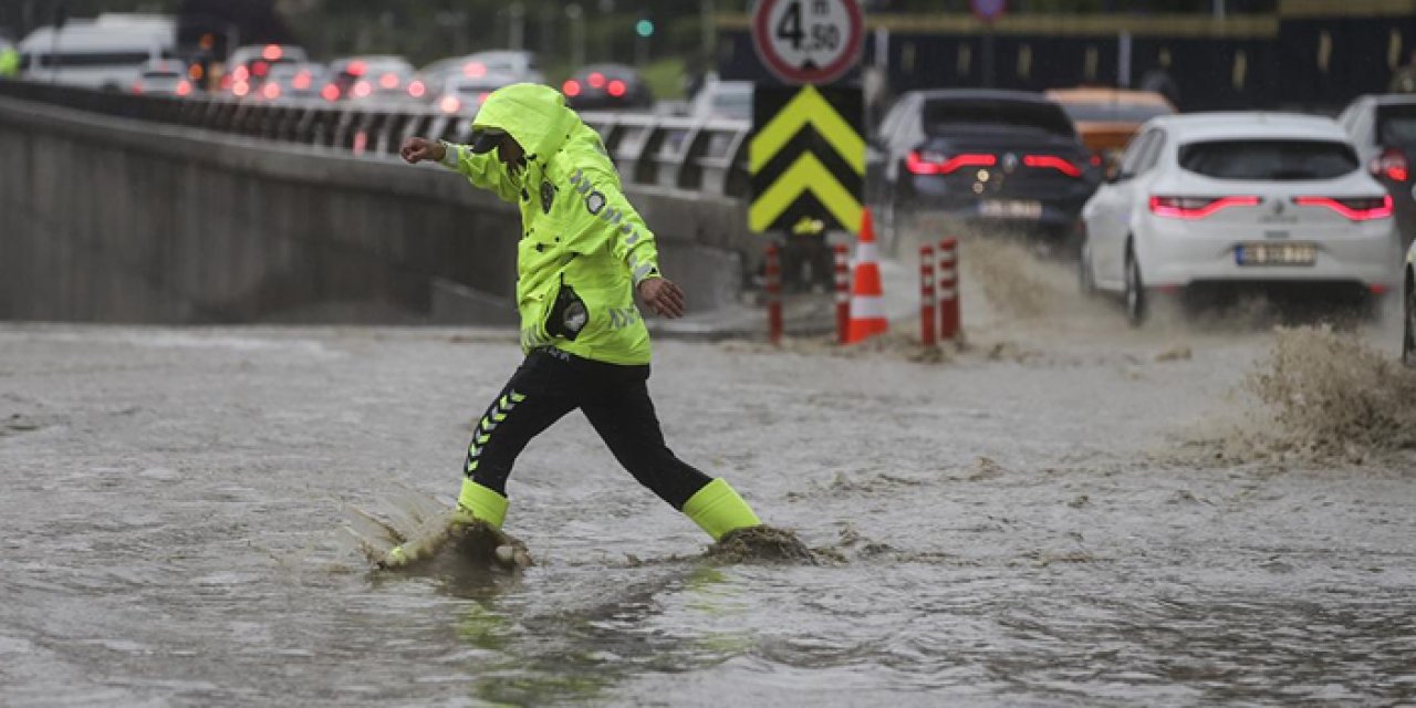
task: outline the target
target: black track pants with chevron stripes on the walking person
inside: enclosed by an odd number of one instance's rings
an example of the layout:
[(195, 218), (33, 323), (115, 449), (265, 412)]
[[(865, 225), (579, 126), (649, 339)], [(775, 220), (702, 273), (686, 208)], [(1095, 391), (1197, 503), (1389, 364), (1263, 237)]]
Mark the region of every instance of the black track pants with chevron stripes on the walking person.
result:
[(616, 365), (555, 348), (534, 350), (477, 422), (463, 472), (506, 496), (511, 466), (531, 438), (579, 408), (640, 484), (683, 510), (712, 479), (664, 445), (647, 381), (647, 364)]

